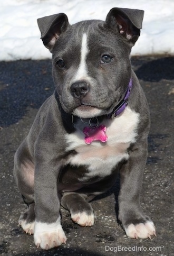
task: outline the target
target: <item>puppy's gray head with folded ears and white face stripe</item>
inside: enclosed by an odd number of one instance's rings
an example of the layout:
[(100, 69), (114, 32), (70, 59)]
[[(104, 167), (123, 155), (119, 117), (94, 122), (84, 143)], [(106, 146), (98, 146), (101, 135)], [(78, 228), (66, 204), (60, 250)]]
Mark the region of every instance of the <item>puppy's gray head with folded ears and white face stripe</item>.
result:
[(112, 112), (129, 84), (129, 54), (142, 19), (143, 11), (113, 8), (105, 21), (70, 25), (64, 13), (37, 20), (66, 113), (91, 118)]

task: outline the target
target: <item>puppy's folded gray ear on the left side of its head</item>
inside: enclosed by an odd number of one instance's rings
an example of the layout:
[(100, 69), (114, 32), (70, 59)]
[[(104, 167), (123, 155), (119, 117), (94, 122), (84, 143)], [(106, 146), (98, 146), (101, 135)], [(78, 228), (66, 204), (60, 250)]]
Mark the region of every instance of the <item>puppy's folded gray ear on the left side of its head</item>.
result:
[(41, 31), (41, 39), (46, 48), (51, 52), (55, 41), (69, 25), (66, 14), (59, 13), (37, 19), (38, 28)]

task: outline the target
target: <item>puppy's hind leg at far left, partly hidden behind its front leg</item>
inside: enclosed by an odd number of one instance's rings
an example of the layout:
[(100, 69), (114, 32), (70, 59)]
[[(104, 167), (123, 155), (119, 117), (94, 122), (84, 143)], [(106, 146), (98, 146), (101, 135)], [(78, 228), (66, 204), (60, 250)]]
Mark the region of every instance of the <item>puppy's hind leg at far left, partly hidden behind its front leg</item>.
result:
[(33, 234), (34, 213), (34, 164), (31, 160), (27, 143), (24, 141), (18, 148), (14, 158), (14, 179), (28, 209), (21, 214), (18, 221), (25, 233)]

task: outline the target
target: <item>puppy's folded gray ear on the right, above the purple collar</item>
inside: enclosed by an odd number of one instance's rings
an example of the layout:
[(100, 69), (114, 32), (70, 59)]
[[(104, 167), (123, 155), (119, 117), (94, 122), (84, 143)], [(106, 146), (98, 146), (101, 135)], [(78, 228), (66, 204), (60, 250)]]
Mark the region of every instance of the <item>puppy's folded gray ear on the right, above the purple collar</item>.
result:
[(142, 10), (112, 8), (107, 15), (106, 23), (134, 44), (140, 36), (143, 15)]

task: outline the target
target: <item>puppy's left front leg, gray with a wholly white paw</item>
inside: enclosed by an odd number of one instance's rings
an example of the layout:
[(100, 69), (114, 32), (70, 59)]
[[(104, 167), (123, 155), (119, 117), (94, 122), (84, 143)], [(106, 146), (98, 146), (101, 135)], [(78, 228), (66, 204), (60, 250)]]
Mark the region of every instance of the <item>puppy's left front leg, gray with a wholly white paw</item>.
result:
[(46, 250), (66, 242), (57, 195), (59, 169), (53, 160), (36, 162), (34, 243)]

